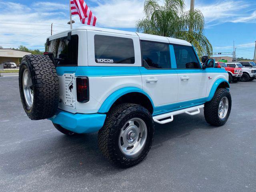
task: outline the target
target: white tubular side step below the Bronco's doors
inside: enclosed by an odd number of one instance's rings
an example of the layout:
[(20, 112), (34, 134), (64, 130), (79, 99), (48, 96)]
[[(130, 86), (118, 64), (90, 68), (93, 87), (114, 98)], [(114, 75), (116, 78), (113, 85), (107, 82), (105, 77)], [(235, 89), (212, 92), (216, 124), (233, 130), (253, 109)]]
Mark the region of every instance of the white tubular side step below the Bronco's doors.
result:
[[(204, 108), (204, 105), (198, 105), (198, 106), (195, 106), (195, 107), (181, 109), (181, 110), (178, 110), (178, 111), (173, 111), (173, 112), (169, 112), (169, 113), (154, 116), (153, 120), (156, 123), (165, 124), (165, 123), (172, 122), (174, 115), (178, 115), (178, 114), (182, 114), (182, 113), (186, 113), (188, 115), (196, 115), (196, 114), (200, 113), (200, 109), (202, 109), (202, 108)], [(194, 112), (192, 112), (192, 111), (194, 111)], [(170, 118), (160, 121), (161, 119), (168, 118), (168, 117), (170, 117)]]

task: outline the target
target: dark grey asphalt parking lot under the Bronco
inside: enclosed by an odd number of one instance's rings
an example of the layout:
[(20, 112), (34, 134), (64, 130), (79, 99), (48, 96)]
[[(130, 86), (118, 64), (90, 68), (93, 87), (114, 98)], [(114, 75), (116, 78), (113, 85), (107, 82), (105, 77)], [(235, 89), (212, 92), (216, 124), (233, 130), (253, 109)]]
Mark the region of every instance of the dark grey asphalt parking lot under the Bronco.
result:
[(30, 120), (18, 77), (0, 77), (0, 191), (256, 191), (256, 80), (231, 84), (228, 122), (196, 116), (156, 125), (143, 162), (116, 168), (101, 155), (97, 133), (69, 138), (49, 120)]

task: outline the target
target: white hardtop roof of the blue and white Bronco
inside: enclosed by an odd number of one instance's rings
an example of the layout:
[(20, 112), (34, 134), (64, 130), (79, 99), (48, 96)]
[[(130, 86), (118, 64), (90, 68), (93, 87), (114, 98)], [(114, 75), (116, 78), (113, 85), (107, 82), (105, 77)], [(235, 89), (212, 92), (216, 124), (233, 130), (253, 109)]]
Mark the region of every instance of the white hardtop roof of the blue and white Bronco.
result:
[[(116, 30), (116, 29), (91, 27), (91, 26), (78, 27), (78, 28), (64, 31), (64, 32), (69, 32), (69, 31), (74, 31), (74, 30), (94, 30), (94, 31), (103, 31), (103, 32), (110, 32), (110, 33), (117, 33), (117, 34), (126, 34), (126, 35), (132, 35), (132, 36), (139, 36), (140, 40), (157, 41), (157, 42), (192, 46), (189, 42), (187, 42), (185, 40), (181, 40), (181, 39), (175, 39), (175, 38), (151, 35), (151, 34), (145, 34), (145, 33), (122, 31), (122, 30)], [(61, 33), (64, 33), (64, 32), (61, 32)], [(59, 33), (59, 34), (61, 34), (61, 33)], [(58, 35), (58, 34), (55, 34), (55, 35)], [(51, 36), (51, 37), (53, 37), (53, 36)]]

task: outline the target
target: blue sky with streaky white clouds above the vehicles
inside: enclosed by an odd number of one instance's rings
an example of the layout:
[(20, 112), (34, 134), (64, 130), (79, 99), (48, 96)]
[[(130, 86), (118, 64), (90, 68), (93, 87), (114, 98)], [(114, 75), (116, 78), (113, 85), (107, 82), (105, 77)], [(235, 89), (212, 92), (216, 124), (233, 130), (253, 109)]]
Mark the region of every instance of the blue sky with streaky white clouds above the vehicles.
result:
[[(185, 0), (188, 9), (190, 0)], [(136, 20), (143, 18), (144, 0), (87, 0), (98, 18), (99, 27), (135, 31)], [(28, 46), (43, 50), (44, 42), (54, 33), (68, 30), (68, 0), (0, 0), (0, 45), (4, 48)], [(195, 8), (205, 17), (205, 34), (214, 51), (232, 51), (237, 57), (253, 58), (256, 40), (255, 0), (195, 0)], [(75, 16), (74, 27), (81, 26)]]

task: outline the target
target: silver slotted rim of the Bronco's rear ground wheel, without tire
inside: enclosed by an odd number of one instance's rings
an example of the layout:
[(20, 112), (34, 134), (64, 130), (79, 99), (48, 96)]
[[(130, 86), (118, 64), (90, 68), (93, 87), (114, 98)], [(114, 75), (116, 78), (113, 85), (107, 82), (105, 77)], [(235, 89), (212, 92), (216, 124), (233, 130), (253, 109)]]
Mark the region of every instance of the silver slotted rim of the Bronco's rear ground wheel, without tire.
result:
[(140, 152), (147, 138), (147, 126), (140, 118), (132, 118), (122, 127), (119, 135), (119, 148), (121, 151), (132, 156)]

